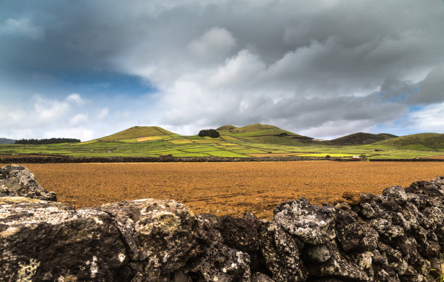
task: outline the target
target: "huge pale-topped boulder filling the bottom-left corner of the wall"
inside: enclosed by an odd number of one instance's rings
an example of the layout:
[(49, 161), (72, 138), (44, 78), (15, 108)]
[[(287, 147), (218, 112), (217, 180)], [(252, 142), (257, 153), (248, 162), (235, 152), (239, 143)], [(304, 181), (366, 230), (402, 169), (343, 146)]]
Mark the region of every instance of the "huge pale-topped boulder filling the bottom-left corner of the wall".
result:
[(128, 261), (105, 212), (32, 200), (0, 205), (0, 256), (2, 281), (113, 281)]

